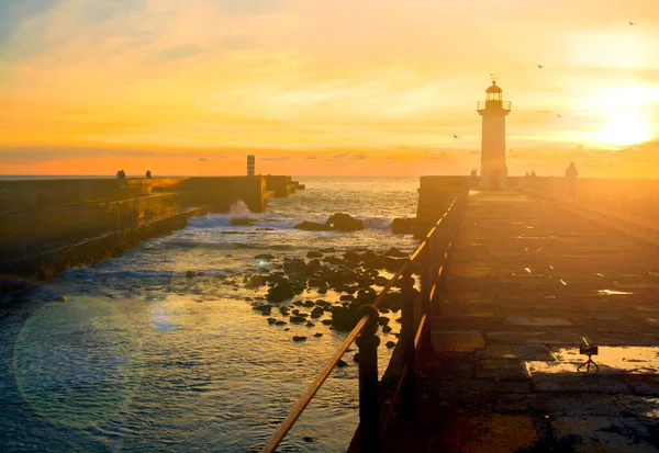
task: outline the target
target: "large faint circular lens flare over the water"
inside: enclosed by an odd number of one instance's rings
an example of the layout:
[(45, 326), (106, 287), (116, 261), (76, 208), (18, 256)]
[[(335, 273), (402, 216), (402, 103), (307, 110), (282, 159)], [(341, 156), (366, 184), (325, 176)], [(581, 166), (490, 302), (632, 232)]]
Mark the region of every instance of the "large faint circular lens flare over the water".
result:
[(21, 394), (53, 423), (83, 428), (114, 419), (141, 381), (142, 349), (133, 331), (129, 319), (97, 298), (42, 307), (14, 347)]

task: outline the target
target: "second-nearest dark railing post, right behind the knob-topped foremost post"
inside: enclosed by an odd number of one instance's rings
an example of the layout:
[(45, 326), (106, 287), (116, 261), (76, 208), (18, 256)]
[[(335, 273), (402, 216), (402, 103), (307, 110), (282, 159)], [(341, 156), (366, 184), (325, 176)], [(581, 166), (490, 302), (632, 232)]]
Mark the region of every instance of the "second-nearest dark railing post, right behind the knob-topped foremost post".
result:
[(414, 279), (411, 271), (403, 274), (403, 315), (402, 332), (403, 363), (407, 365), (407, 372), (403, 381), (401, 416), (404, 419), (415, 419), (417, 415), (416, 404), (416, 351), (414, 350)]

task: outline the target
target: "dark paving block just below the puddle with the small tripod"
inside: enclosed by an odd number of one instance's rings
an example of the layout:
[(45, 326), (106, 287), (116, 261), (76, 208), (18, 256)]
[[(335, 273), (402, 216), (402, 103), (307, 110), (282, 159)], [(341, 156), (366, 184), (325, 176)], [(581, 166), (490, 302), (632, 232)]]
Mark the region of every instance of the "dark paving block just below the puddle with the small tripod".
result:
[(577, 373), (534, 373), (530, 376), (537, 392), (579, 392), (601, 394), (630, 394), (623, 377)]

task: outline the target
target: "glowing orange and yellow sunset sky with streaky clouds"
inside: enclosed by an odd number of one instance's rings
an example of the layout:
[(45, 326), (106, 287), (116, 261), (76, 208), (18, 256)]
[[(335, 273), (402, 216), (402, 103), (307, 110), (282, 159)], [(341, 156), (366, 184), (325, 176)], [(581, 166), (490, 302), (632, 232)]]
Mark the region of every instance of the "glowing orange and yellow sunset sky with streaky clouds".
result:
[(0, 174), (469, 173), (492, 73), (509, 173), (656, 177), (657, 0), (0, 0)]

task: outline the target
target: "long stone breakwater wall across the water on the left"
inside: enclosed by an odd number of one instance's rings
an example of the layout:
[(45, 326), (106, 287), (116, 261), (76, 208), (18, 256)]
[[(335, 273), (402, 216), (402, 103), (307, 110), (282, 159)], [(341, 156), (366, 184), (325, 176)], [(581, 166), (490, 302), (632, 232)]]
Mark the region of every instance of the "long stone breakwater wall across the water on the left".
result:
[(0, 181), (0, 272), (49, 276), (237, 201), (263, 212), (273, 195), (265, 177)]

